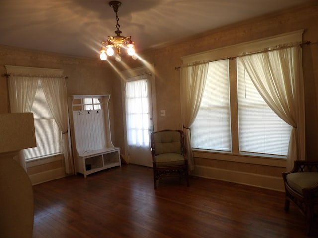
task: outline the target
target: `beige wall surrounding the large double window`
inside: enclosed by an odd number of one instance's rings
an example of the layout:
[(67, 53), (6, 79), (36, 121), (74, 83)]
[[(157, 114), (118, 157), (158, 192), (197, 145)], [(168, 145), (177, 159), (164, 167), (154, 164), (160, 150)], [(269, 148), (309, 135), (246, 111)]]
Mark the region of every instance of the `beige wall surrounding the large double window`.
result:
[[(166, 116), (158, 116), (158, 129), (182, 129), (180, 116), (179, 67), (181, 57), (305, 29), (304, 41), (318, 41), (318, 2), (286, 9), (274, 14), (250, 19), (203, 33), (197, 37), (171, 44), (161, 49), (148, 50), (143, 57), (155, 65), (157, 115), (166, 110)], [(308, 159), (318, 157), (318, 44), (303, 46), (303, 70), (305, 81), (306, 147)], [(131, 67), (138, 67), (136, 61)], [(116, 91), (119, 91), (116, 90)], [(118, 98), (119, 100), (119, 98)], [(116, 99), (117, 101), (117, 99)], [(117, 127), (117, 129), (119, 129)], [(252, 156), (195, 152), (194, 174), (236, 181), (261, 187), (282, 190), (281, 173), (286, 170), (284, 160)], [(226, 175), (226, 176), (225, 176)]]

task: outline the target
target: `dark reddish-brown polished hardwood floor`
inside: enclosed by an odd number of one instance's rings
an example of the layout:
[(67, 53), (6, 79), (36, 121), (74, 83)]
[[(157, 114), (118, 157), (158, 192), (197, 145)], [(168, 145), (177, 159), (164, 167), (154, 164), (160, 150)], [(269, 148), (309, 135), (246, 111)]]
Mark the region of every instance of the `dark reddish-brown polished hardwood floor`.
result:
[(123, 165), (33, 186), (33, 238), (305, 238), (284, 193), (193, 177), (190, 187), (152, 168)]

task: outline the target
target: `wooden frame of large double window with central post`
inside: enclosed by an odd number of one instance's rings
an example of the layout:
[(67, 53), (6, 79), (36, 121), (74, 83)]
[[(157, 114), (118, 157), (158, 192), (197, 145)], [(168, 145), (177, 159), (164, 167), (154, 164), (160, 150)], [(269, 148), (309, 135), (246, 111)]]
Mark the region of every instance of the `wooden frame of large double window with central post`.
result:
[[(249, 41), (232, 46), (213, 49), (201, 53), (182, 57), (183, 64), (190, 64), (202, 61), (217, 61), (229, 59), (229, 70), (235, 73), (230, 75), (230, 123), (232, 151), (213, 151), (207, 149), (193, 149), (194, 157), (211, 158), (225, 161), (246, 162), (251, 164), (286, 166), (286, 156), (259, 154), (239, 151), (239, 115), (238, 115), (238, 93), (237, 93), (237, 72), (236, 57), (244, 52), (256, 52), (260, 49), (285, 44), (289, 42), (301, 42), (304, 30), (293, 31), (255, 41)], [(258, 159), (255, 160), (255, 157)], [(274, 160), (273, 160), (274, 159)]]

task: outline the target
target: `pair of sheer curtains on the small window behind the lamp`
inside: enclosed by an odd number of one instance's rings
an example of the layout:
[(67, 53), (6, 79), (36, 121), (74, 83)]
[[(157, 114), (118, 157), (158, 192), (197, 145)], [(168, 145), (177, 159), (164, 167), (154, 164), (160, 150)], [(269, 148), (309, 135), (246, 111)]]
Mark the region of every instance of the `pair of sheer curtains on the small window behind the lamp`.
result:
[[(30, 76), (11, 74), (8, 80), (11, 112), (31, 112), (38, 82), (41, 82), (43, 92), (51, 109), (52, 115), (62, 131), (63, 153), (66, 173), (74, 173), (72, 156), (68, 140), (67, 91), (64, 77), (61, 76)], [(19, 162), (26, 170), (23, 151)]]

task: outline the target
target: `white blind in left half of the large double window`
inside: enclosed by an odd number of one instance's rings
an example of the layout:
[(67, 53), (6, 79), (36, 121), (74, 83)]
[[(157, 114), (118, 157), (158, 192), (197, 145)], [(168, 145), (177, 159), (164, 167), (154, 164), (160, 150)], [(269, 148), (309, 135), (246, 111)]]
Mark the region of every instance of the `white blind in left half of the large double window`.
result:
[(229, 61), (209, 63), (198, 115), (191, 125), (193, 148), (231, 151)]

